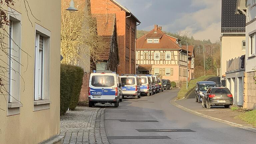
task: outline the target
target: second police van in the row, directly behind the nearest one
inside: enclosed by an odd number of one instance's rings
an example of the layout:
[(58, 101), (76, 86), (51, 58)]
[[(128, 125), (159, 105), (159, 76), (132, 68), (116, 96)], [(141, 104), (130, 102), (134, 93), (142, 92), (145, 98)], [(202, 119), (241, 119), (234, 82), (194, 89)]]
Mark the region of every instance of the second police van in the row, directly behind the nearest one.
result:
[(124, 96), (134, 96), (140, 98), (140, 81), (139, 78), (132, 74), (125, 74), (121, 77)]

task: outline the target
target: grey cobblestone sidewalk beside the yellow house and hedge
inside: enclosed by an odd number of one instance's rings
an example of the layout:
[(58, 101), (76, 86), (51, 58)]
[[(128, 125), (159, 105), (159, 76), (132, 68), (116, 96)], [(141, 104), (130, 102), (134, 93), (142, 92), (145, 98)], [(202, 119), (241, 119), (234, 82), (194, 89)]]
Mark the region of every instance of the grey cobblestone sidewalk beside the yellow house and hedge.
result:
[(104, 108), (80, 107), (60, 117), (62, 144), (109, 144), (104, 129)]

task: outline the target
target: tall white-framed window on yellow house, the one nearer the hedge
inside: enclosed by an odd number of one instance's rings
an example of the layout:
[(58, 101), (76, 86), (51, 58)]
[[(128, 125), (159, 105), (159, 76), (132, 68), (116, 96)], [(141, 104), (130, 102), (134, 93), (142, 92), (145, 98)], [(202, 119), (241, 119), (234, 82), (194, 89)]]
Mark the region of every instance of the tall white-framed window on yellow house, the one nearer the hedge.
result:
[(36, 24), (34, 100), (50, 100), (50, 36), (51, 32)]

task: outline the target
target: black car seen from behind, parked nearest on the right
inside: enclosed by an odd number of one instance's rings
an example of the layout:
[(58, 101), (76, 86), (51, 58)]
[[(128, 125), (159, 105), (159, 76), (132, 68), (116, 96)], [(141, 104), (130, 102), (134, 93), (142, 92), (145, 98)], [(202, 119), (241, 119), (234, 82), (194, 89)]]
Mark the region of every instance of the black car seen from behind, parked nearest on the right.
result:
[(202, 106), (210, 109), (211, 106), (229, 106), (233, 105), (233, 95), (228, 88), (211, 87), (203, 97)]

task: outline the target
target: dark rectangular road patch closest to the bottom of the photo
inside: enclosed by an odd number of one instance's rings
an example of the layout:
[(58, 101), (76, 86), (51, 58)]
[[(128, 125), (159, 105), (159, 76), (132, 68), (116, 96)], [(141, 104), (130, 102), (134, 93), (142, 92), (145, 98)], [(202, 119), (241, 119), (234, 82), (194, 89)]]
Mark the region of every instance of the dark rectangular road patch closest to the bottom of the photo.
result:
[(168, 136), (108, 136), (107, 139), (171, 139)]

